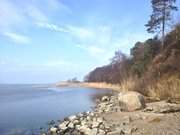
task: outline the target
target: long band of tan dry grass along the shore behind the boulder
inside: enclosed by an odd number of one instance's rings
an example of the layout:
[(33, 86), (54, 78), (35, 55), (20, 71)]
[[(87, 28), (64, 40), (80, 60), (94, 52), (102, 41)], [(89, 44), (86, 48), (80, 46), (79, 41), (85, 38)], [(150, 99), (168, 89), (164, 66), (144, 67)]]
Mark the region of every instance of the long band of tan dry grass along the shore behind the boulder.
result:
[(110, 89), (115, 91), (138, 91), (145, 96), (153, 97), (153, 99), (180, 99), (180, 74), (162, 76), (159, 81), (153, 83), (141, 83), (141, 79), (137, 77), (129, 77), (122, 81), (121, 84), (108, 83), (63, 83), (62, 86), (78, 86), (98, 89)]

